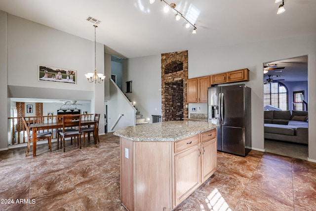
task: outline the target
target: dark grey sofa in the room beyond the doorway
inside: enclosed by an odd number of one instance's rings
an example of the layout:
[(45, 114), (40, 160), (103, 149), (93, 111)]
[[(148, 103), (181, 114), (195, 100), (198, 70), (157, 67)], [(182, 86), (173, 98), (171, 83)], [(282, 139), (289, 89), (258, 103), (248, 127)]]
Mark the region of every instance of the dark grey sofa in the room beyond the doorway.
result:
[(264, 137), (308, 144), (307, 111), (265, 111)]

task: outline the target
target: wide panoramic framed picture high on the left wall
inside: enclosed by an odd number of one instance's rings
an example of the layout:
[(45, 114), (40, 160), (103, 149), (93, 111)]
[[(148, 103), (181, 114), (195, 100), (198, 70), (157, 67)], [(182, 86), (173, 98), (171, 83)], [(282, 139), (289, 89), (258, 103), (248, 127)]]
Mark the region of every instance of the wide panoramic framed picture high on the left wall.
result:
[(39, 81), (77, 84), (77, 71), (39, 65)]

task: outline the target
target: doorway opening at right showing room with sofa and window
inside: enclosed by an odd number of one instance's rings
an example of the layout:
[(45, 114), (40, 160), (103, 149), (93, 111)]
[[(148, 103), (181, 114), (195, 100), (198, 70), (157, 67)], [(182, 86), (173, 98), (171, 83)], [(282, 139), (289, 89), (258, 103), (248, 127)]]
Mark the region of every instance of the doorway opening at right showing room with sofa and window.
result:
[(266, 152), (308, 158), (308, 56), (263, 63)]

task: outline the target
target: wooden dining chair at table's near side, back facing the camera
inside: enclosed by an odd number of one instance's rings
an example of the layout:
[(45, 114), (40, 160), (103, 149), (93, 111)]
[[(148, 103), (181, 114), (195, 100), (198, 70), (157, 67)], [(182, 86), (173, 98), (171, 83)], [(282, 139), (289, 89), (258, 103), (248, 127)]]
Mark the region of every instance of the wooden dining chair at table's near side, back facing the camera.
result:
[[(67, 130), (69, 128), (71, 130)], [(65, 138), (78, 137), (79, 147), (81, 149), (81, 116), (80, 115), (64, 115), (63, 116), (63, 130), (59, 132), (59, 135), (63, 139), (64, 152), (65, 149)]]

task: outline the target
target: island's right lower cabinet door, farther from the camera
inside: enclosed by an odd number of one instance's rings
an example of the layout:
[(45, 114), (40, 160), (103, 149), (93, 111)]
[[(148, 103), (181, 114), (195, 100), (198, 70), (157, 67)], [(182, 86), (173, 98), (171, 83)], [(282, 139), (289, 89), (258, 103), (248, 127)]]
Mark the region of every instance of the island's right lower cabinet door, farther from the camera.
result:
[(202, 182), (205, 182), (216, 170), (217, 166), (217, 146), (216, 138), (201, 144), (201, 166)]

